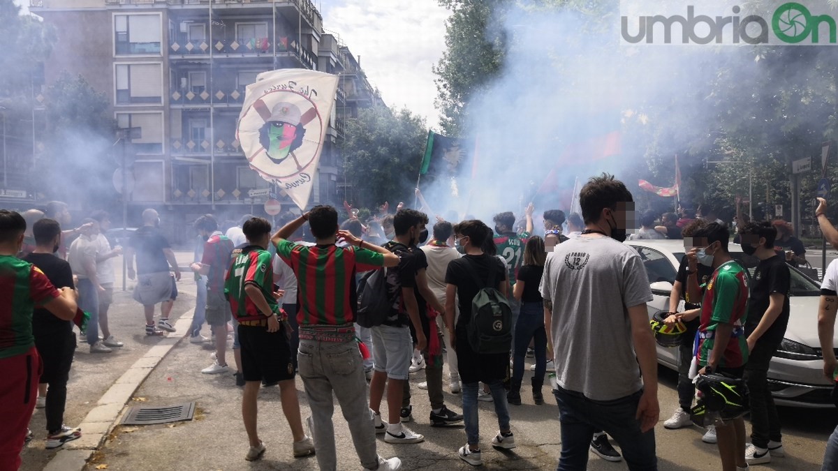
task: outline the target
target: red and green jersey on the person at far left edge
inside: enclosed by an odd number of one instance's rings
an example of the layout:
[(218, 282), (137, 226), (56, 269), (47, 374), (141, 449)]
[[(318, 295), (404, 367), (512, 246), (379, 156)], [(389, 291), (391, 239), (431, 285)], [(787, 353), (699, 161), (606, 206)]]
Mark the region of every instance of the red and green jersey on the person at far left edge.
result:
[(38, 267), (16, 256), (0, 256), (0, 358), (23, 355), (34, 346), (34, 308), (59, 296)]

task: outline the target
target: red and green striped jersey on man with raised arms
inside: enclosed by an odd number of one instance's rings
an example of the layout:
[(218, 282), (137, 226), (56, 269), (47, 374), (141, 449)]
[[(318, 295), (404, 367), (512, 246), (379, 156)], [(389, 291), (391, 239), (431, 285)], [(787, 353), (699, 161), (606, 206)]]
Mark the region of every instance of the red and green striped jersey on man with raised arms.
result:
[(384, 256), (356, 247), (277, 243), (277, 255), (297, 275), (299, 325), (353, 323), (358, 309), (355, 273), (384, 267)]

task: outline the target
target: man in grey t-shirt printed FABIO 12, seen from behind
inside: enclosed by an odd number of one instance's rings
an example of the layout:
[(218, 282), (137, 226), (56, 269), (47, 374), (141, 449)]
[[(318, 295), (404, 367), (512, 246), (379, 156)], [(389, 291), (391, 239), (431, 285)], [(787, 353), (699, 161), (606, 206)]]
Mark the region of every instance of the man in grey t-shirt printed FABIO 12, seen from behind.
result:
[(622, 243), (633, 220), (632, 194), (603, 173), (588, 180), (579, 200), (586, 230), (547, 255), (539, 287), (556, 365), (558, 468), (585, 468), (589, 449), (618, 460), (598, 432), (604, 431), (620, 444), (629, 468), (654, 469), (660, 409), (646, 307), (652, 293), (638, 252)]

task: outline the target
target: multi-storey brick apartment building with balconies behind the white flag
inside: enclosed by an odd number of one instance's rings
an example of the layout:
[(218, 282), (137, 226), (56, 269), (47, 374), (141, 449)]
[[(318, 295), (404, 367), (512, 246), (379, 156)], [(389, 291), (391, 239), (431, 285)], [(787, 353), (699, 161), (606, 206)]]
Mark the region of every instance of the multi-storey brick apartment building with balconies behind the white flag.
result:
[(138, 128), (127, 136), (132, 209), (263, 215), (269, 185), (248, 167), (235, 127), (246, 85), (283, 68), (341, 77), (311, 204), (343, 201), (344, 119), (383, 102), (310, 0), (32, 0), (30, 11), (59, 35), (46, 84), (63, 70), (83, 75), (111, 97), (118, 127)]

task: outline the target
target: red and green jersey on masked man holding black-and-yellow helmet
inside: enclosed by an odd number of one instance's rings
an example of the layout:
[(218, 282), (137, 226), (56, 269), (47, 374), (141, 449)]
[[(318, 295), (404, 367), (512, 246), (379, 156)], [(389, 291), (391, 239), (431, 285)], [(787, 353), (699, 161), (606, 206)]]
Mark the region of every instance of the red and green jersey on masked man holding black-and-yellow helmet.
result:
[(701, 301), (700, 336), (709, 336), (700, 340), (698, 362), (707, 365), (710, 352), (715, 344), (712, 338), (720, 323), (734, 326), (734, 333), (727, 342), (722, 361), (717, 366), (737, 368), (747, 361), (747, 339), (742, 332), (742, 325), (747, 318), (747, 282), (745, 269), (736, 261), (728, 261), (716, 268), (706, 284), (704, 298)]

